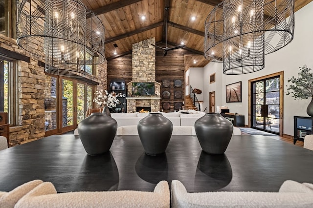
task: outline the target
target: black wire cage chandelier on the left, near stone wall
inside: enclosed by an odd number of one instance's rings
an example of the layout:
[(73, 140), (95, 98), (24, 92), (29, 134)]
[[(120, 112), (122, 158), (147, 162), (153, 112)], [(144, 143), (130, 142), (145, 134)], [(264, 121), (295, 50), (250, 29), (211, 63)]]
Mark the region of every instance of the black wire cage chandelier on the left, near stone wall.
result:
[(81, 0), (17, 0), (17, 43), (50, 74), (81, 78), (104, 62), (104, 26)]

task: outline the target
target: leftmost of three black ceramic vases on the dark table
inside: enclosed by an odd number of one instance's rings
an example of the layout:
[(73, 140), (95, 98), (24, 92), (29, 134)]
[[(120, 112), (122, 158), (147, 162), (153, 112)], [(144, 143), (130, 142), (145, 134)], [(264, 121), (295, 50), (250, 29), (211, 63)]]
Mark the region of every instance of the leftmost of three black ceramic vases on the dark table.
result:
[(105, 113), (91, 113), (77, 128), (87, 154), (99, 155), (110, 150), (117, 122)]

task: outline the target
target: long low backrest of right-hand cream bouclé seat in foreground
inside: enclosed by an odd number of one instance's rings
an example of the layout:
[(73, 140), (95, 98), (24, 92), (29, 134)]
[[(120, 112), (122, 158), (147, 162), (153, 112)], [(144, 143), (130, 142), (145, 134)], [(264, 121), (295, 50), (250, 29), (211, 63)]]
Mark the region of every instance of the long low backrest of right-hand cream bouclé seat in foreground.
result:
[(178, 180), (172, 181), (172, 208), (310, 208), (313, 194), (303, 192), (201, 192), (188, 193)]

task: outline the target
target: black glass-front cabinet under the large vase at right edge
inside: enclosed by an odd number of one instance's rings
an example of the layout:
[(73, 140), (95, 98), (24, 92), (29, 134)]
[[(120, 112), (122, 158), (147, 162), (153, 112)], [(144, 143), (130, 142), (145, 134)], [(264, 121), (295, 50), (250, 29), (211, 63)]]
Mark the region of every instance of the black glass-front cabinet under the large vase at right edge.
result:
[(304, 141), (307, 134), (313, 134), (313, 117), (311, 116), (293, 116), (293, 144)]

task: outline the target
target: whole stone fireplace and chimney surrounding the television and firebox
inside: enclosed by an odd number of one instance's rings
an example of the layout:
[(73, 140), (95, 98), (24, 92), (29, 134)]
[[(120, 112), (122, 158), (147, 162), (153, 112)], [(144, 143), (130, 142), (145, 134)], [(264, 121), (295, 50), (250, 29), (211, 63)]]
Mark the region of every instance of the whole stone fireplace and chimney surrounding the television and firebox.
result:
[(137, 107), (150, 107), (150, 112), (160, 110), (160, 96), (139, 96), (132, 94), (132, 83), (155, 83), (155, 92), (160, 92), (160, 83), (156, 82), (156, 44), (155, 38), (133, 44), (133, 79), (127, 83), (127, 112), (137, 112)]

